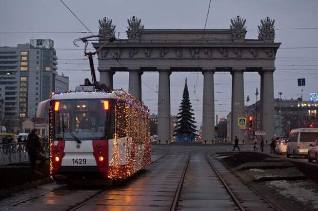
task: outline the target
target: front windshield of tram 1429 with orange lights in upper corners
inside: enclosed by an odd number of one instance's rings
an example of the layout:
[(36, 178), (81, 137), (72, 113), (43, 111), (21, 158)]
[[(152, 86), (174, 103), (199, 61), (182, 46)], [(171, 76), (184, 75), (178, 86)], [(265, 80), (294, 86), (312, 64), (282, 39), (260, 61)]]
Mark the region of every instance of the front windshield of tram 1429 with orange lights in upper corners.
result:
[(99, 140), (112, 137), (114, 123), (110, 100), (56, 100), (52, 106), (55, 140)]

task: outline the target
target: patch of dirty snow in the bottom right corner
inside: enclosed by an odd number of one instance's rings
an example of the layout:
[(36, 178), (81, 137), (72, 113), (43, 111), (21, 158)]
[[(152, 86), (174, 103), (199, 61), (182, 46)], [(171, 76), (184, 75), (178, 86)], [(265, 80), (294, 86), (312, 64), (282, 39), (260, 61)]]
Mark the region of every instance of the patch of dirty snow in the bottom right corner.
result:
[(277, 187), (277, 191), (282, 196), (294, 197), (295, 199), (304, 202), (312, 203), (315, 208), (318, 208), (317, 195), (313, 189), (308, 189), (306, 187), (305, 181), (286, 181), (286, 180), (276, 180), (267, 182), (267, 185)]

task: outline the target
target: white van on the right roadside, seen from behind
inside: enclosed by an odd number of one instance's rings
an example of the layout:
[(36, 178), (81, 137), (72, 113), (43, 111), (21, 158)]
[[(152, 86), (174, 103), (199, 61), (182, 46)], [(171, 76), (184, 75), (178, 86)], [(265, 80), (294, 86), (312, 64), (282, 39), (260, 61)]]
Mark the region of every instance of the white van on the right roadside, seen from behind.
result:
[(290, 131), (287, 142), (287, 157), (308, 156), (309, 144), (318, 138), (318, 128), (298, 128)]

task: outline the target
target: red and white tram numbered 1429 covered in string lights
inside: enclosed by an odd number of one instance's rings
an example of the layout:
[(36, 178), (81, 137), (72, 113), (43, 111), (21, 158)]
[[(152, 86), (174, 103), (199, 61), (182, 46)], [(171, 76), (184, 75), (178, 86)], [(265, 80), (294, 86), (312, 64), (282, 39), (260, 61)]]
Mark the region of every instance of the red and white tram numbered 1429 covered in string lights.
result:
[[(82, 87), (83, 89), (83, 87)], [(52, 178), (127, 178), (150, 164), (149, 109), (124, 90), (52, 93)]]

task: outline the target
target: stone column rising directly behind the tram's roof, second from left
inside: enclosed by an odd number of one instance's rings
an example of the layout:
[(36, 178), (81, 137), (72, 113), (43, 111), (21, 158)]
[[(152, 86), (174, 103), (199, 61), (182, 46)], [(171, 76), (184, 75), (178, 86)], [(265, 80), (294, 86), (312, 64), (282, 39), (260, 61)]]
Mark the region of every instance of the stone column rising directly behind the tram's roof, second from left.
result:
[(142, 74), (140, 70), (129, 71), (129, 94), (133, 95), (138, 100), (142, 100)]

